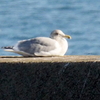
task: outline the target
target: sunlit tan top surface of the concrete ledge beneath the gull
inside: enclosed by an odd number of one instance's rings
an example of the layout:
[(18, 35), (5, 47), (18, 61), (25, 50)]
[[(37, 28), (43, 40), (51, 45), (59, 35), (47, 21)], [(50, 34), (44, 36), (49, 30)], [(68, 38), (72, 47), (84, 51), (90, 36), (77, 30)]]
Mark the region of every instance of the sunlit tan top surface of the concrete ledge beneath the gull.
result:
[(100, 56), (21, 57), (1, 56), (0, 62), (100, 62)]

